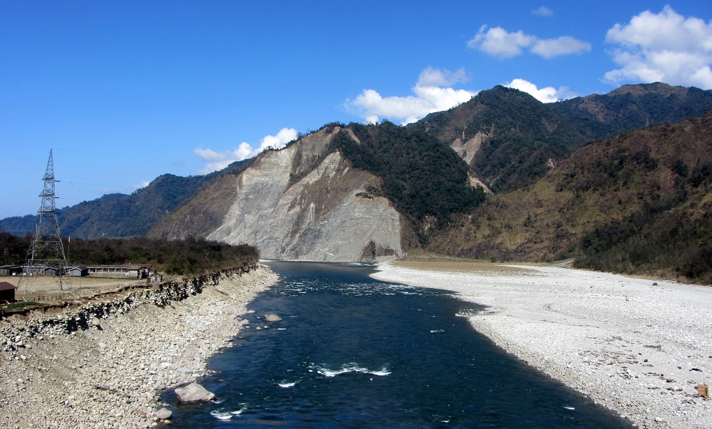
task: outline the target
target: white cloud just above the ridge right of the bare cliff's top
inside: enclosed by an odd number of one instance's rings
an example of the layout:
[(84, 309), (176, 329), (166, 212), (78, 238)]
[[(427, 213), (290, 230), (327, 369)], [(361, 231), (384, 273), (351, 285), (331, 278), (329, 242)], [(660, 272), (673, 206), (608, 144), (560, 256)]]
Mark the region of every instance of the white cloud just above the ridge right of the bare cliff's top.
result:
[(347, 100), (345, 107), (365, 118), (365, 122), (375, 123), (379, 117), (385, 117), (409, 124), (429, 113), (448, 110), (470, 100), (477, 92), (444, 88), (467, 80), (463, 68), (454, 72), (426, 68), (412, 88), (414, 95), (382, 97), (375, 90), (364, 90), (354, 100)]

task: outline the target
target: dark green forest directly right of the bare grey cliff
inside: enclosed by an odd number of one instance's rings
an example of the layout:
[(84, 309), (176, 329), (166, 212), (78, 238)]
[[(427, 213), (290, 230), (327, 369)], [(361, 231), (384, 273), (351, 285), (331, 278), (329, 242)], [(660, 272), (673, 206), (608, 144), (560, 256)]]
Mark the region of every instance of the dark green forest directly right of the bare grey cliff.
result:
[(464, 161), (435, 137), (391, 122), (349, 127), (360, 143), (342, 131), (333, 146), (355, 168), (381, 177), (382, 195), (411, 220), (444, 222), (484, 201), (483, 190), (469, 186)]

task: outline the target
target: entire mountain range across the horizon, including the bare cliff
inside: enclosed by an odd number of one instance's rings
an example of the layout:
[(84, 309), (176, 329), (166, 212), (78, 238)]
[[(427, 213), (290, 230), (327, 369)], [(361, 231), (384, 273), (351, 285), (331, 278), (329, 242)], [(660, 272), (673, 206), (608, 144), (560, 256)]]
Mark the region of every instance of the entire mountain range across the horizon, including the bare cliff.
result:
[[(328, 124), (58, 219), (63, 235), (209, 238), (263, 258), (422, 248), (712, 282), (711, 109), (712, 91), (663, 83), (550, 104), (498, 86), (407, 126)], [(33, 226), (0, 221), (15, 235)]]

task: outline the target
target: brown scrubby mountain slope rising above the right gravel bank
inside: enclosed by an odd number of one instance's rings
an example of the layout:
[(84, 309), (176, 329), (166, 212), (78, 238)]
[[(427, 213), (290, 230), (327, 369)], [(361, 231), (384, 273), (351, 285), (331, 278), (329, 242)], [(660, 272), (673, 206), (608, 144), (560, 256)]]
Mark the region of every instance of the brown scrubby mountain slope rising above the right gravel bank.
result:
[(712, 282), (712, 115), (590, 144), (493, 196), (430, 250)]

